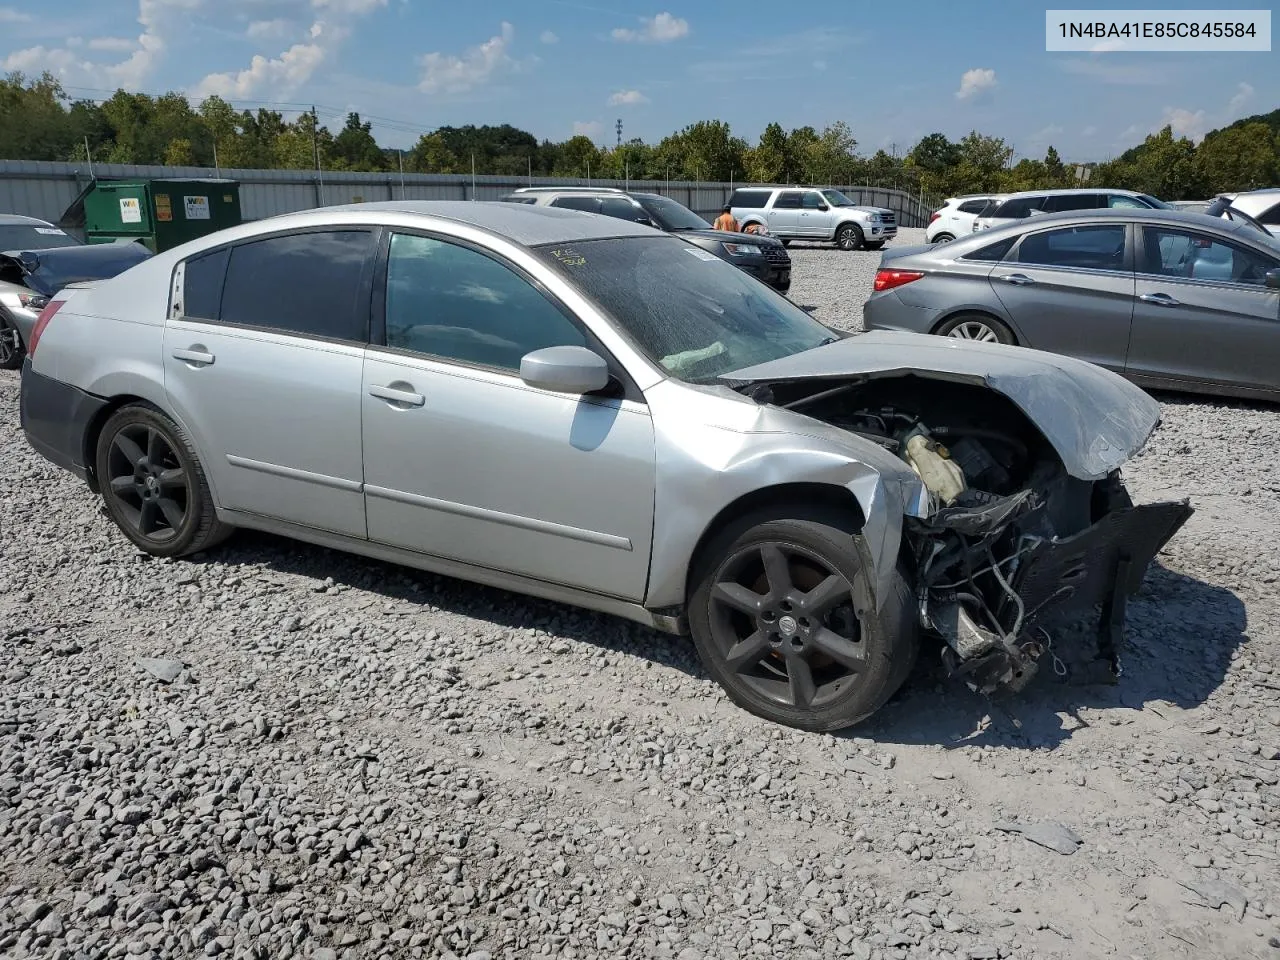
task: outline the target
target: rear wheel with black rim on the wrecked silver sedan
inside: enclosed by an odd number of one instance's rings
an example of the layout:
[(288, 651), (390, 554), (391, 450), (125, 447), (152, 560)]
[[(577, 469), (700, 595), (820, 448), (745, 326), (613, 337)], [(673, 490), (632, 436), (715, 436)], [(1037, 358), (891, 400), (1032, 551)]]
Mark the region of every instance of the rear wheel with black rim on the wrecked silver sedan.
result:
[(120, 407), (97, 439), (96, 470), (108, 516), (154, 557), (183, 557), (227, 539), (205, 470), (186, 434), (157, 410)]

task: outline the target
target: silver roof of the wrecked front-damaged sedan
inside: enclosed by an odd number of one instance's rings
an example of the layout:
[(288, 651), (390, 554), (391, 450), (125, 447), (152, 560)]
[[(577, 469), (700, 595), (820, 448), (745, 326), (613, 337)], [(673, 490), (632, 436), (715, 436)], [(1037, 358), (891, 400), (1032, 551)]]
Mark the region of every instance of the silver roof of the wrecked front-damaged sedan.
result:
[(291, 220), (298, 227), (312, 227), (317, 221), (323, 223), (325, 215), (330, 212), (369, 214), (370, 211), (453, 220), (507, 237), (526, 247), (608, 237), (646, 237), (655, 233), (652, 227), (613, 216), (586, 214), (581, 210), (475, 200), (383, 200), (371, 204), (344, 204), (284, 214), (256, 223), (264, 227), (270, 224), (271, 229), (287, 229), (292, 225)]

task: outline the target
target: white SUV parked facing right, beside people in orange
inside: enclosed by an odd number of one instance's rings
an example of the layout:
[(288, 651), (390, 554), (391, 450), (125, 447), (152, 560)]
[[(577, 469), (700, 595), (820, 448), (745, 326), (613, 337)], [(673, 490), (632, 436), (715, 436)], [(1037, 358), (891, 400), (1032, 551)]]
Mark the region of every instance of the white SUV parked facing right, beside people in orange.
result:
[(828, 187), (741, 187), (728, 205), (741, 227), (764, 224), (783, 243), (814, 239), (841, 250), (879, 250), (897, 236), (892, 210), (858, 206)]

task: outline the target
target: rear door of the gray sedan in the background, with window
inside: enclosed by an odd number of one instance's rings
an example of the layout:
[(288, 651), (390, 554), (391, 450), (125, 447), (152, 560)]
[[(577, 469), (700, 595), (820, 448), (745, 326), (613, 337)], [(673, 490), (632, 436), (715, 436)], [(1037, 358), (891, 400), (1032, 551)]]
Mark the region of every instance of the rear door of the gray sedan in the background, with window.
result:
[(1023, 234), (991, 271), (1019, 342), (1123, 371), (1133, 319), (1133, 264), (1123, 223)]

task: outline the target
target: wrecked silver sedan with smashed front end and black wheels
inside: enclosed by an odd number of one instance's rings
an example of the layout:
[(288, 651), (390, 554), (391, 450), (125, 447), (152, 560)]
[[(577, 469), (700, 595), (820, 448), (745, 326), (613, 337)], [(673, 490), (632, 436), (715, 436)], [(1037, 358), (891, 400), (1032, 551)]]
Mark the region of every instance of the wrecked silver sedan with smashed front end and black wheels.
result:
[(676, 236), (516, 204), (193, 241), (59, 293), (22, 380), (29, 443), (148, 553), (252, 527), (691, 632), (808, 730), (879, 708), (922, 631), (1016, 689), (1103, 604), (1114, 671), (1190, 512), (1119, 477), (1158, 415), (1088, 364), (845, 338)]

